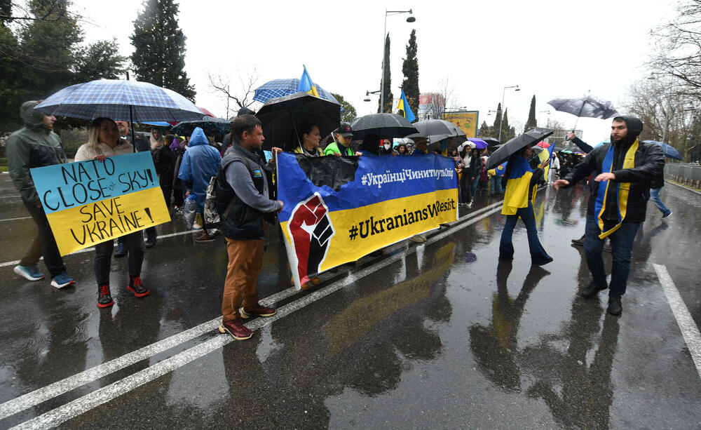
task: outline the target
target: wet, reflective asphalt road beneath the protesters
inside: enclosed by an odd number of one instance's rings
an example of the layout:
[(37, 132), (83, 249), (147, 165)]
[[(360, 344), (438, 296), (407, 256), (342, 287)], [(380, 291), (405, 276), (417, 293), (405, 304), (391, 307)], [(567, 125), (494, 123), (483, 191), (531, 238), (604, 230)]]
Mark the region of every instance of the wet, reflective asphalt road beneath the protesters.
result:
[(669, 220), (648, 206), (621, 317), (606, 314), (605, 292), (577, 295), (589, 282), (570, 244), (584, 230), (583, 187), (549, 188), (536, 200), (554, 257), (542, 268), (521, 223), (514, 262), (498, 264), (504, 217), (486, 196), (425, 244), (365, 257), (307, 292), (290, 290), (270, 231), (259, 292), (280, 311), (253, 320), (245, 342), (216, 331), (221, 237), (193, 243), (177, 216), (159, 226), (175, 235), (147, 250), (151, 295), (128, 294), (114, 259), (115, 305), (101, 310), (92, 251), (64, 258), (73, 288), (13, 274), (35, 230), (13, 220), (27, 213), (7, 175), (0, 191), (0, 428), (701, 427), (701, 377), (653, 267), (701, 325), (701, 196), (672, 184)]

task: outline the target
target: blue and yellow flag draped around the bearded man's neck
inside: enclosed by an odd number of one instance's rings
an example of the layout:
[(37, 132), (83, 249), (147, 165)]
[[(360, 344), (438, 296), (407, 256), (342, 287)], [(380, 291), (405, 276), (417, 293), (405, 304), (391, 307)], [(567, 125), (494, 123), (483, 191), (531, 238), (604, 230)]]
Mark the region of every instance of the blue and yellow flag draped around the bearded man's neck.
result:
[[(635, 167), (635, 152), (638, 150), (638, 140), (630, 145), (628, 150), (625, 152), (625, 159), (623, 160), (623, 168), (629, 169)], [(604, 157), (604, 162), (601, 163), (601, 173), (611, 173), (613, 171), (613, 143), (608, 147), (606, 151), (606, 157)], [(625, 213), (628, 206), (628, 193), (630, 192), (630, 182), (613, 182), (601, 181), (599, 182), (599, 189), (597, 190), (597, 201), (594, 202), (594, 215), (597, 217), (597, 222), (599, 223), (599, 238), (603, 239), (609, 234), (620, 228), (620, 224), (625, 219)], [(615, 201), (618, 203), (618, 224), (615, 224), (611, 229), (604, 231), (604, 213), (606, 212), (606, 202), (608, 201), (608, 193), (615, 193)]]

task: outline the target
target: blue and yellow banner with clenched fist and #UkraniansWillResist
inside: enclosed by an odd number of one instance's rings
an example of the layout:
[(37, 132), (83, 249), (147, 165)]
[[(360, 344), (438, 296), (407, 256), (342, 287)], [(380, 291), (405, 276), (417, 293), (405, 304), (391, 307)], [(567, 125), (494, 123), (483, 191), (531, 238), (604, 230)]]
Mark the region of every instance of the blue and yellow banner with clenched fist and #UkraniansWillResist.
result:
[(278, 215), (297, 288), (322, 271), (457, 219), (444, 156), (278, 156)]

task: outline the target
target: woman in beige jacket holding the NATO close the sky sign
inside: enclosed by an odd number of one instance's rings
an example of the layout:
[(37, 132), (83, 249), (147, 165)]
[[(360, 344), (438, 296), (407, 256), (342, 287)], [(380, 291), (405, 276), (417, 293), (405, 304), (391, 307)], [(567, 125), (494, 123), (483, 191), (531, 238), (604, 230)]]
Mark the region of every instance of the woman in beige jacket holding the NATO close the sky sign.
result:
[[(119, 138), (117, 124), (109, 118), (97, 118), (90, 124), (88, 143), (81, 146), (75, 161), (104, 161), (108, 156), (131, 154), (132, 145)], [(149, 295), (149, 290), (141, 283), (141, 265), (144, 262), (144, 236), (135, 231), (124, 236), (129, 250), (129, 286), (127, 290), (136, 297)], [(97, 281), (97, 307), (110, 307), (114, 304), (109, 292), (109, 267), (114, 241), (109, 240), (95, 245), (95, 280)]]

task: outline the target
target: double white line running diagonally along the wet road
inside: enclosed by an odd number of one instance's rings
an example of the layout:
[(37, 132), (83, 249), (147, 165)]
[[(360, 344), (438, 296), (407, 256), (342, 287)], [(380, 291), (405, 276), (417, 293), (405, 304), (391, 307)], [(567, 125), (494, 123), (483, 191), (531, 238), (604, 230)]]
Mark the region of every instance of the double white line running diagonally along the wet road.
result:
[[(322, 297), (334, 293), (335, 291), (344, 288), (348, 285), (352, 285), (353, 283), (355, 283), (355, 281), (358, 281), (361, 278), (364, 278), (365, 276), (372, 274), (375, 271), (378, 271), (379, 269), (382, 269), (383, 267), (387, 267), (387, 265), (391, 262), (395, 262), (406, 257), (407, 255), (411, 255), (412, 253), (416, 252), (418, 248), (424, 248), (430, 245), (431, 243), (440, 241), (446, 236), (454, 234), (457, 231), (464, 229), (465, 227), (475, 224), (475, 222), (482, 220), (484, 217), (488, 217), (489, 215), (497, 212), (498, 210), (501, 210), (501, 201), (493, 203), (489, 206), (486, 206), (486, 208), (482, 208), (480, 210), (475, 211), (474, 213), (470, 213), (468, 215), (465, 215), (465, 217), (461, 218), (461, 220), (466, 220), (472, 217), (473, 219), (469, 221), (451, 227), (445, 231), (442, 231), (439, 234), (435, 234), (435, 236), (431, 236), (426, 242), (421, 243), (418, 246), (411, 247), (405, 250), (403, 253), (390, 255), (387, 258), (380, 260), (379, 262), (376, 262), (374, 264), (371, 264), (370, 266), (365, 267), (360, 271), (354, 272), (348, 277), (336, 281), (325, 288), (316, 290), (314, 293), (305, 295), (304, 297), (301, 297), (299, 300), (295, 300), (290, 304), (286, 304), (285, 306), (280, 307), (280, 309), (278, 309), (278, 312), (277, 314), (275, 314), (275, 316), (272, 316), (270, 318), (257, 318), (251, 323), (248, 323), (247, 327), (254, 331), (258, 330), (259, 328), (262, 328), (265, 325), (273, 323), (273, 321), (277, 321), (278, 319), (283, 318), (284, 316), (292, 314), (292, 312), (305, 307), (307, 304), (313, 303), (316, 300), (319, 300)], [(477, 216), (480, 213), (482, 213), (482, 215)], [(264, 302), (264, 304), (272, 304), (276, 301), (283, 300), (284, 297), (294, 295), (295, 293), (297, 293), (297, 290), (295, 290), (294, 287), (287, 288), (287, 290), (283, 290), (280, 293), (277, 293), (276, 295), (266, 297), (266, 299), (261, 300), (261, 302)], [(219, 324), (219, 318), (220, 317), (217, 317), (212, 321), (207, 321), (207, 323), (200, 324), (194, 328), (186, 330), (185, 332), (179, 333), (178, 335), (168, 337), (165, 340), (161, 340), (142, 349), (138, 349), (137, 351), (133, 351), (130, 354), (121, 356), (120, 358), (115, 358), (112, 361), (103, 363), (102, 365), (98, 365), (95, 368), (86, 370), (85, 372), (81, 372), (78, 375), (62, 379), (61, 381), (50, 384), (47, 387), (44, 387), (43, 389), (32, 391), (28, 394), (25, 394), (24, 396), (15, 398), (12, 401), (3, 403), (2, 405), (0, 405), (0, 419), (3, 419), (4, 417), (8, 417), (10, 415), (14, 415), (15, 413), (20, 412), (21, 410), (25, 410), (26, 408), (38, 405), (43, 401), (49, 400), (50, 398), (53, 398), (55, 396), (59, 396), (60, 394), (64, 394), (68, 391), (71, 391), (72, 389), (80, 387), (83, 384), (92, 382), (97, 378), (109, 375), (109, 373), (115, 372), (116, 370), (119, 370), (121, 368), (125, 368), (126, 366), (131, 365), (137, 361), (144, 360), (145, 358), (149, 358), (154, 354), (158, 354), (159, 352), (165, 351), (166, 349), (175, 347), (177, 346), (177, 344), (191, 340), (194, 337), (202, 335), (205, 332), (215, 330), (215, 328)], [(186, 351), (182, 351), (179, 354), (175, 354), (175, 356), (167, 358), (159, 363), (156, 363), (155, 365), (152, 365), (149, 368), (140, 370), (139, 372), (125, 377), (124, 379), (120, 379), (117, 382), (109, 384), (108, 386), (103, 387), (102, 389), (93, 391), (81, 398), (77, 398), (74, 401), (66, 403), (42, 415), (39, 415), (39, 417), (29, 419), (28, 421), (23, 422), (22, 424), (18, 424), (18, 426), (13, 427), (13, 429), (49, 429), (54, 426), (57, 426), (63, 422), (66, 422), (69, 419), (72, 419), (73, 417), (81, 415), (82, 413), (92, 408), (102, 405), (103, 403), (107, 403), (113, 400), (114, 398), (117, 398), (118, 396), (121, 396), (127, 393), (128, 391), (131, 391), (132, 389), (140, 387), (141, 385), (146, 384), (147, 382), (151, 382), (157, 377), (165, 375), (166, 373), (171, 372), (172, 370), (176, 370), (177, 368), (191, 363), (192, 361), (196, 360), (197, 358), (200, 358), (201, 356), (204, 356), (205, 354), (209, 354), (210, 352), (215, 351), (220, 347), (224, 347), (224, 345), (229, 344), (229, 342), (231, 341), (233, 341), (233, 338), (231, 338), (231, 336), (229, 335), (217, 336), (215, 338), (212, 338), (207, 342), (198, 344), (195, 347), (187, 349)]]

